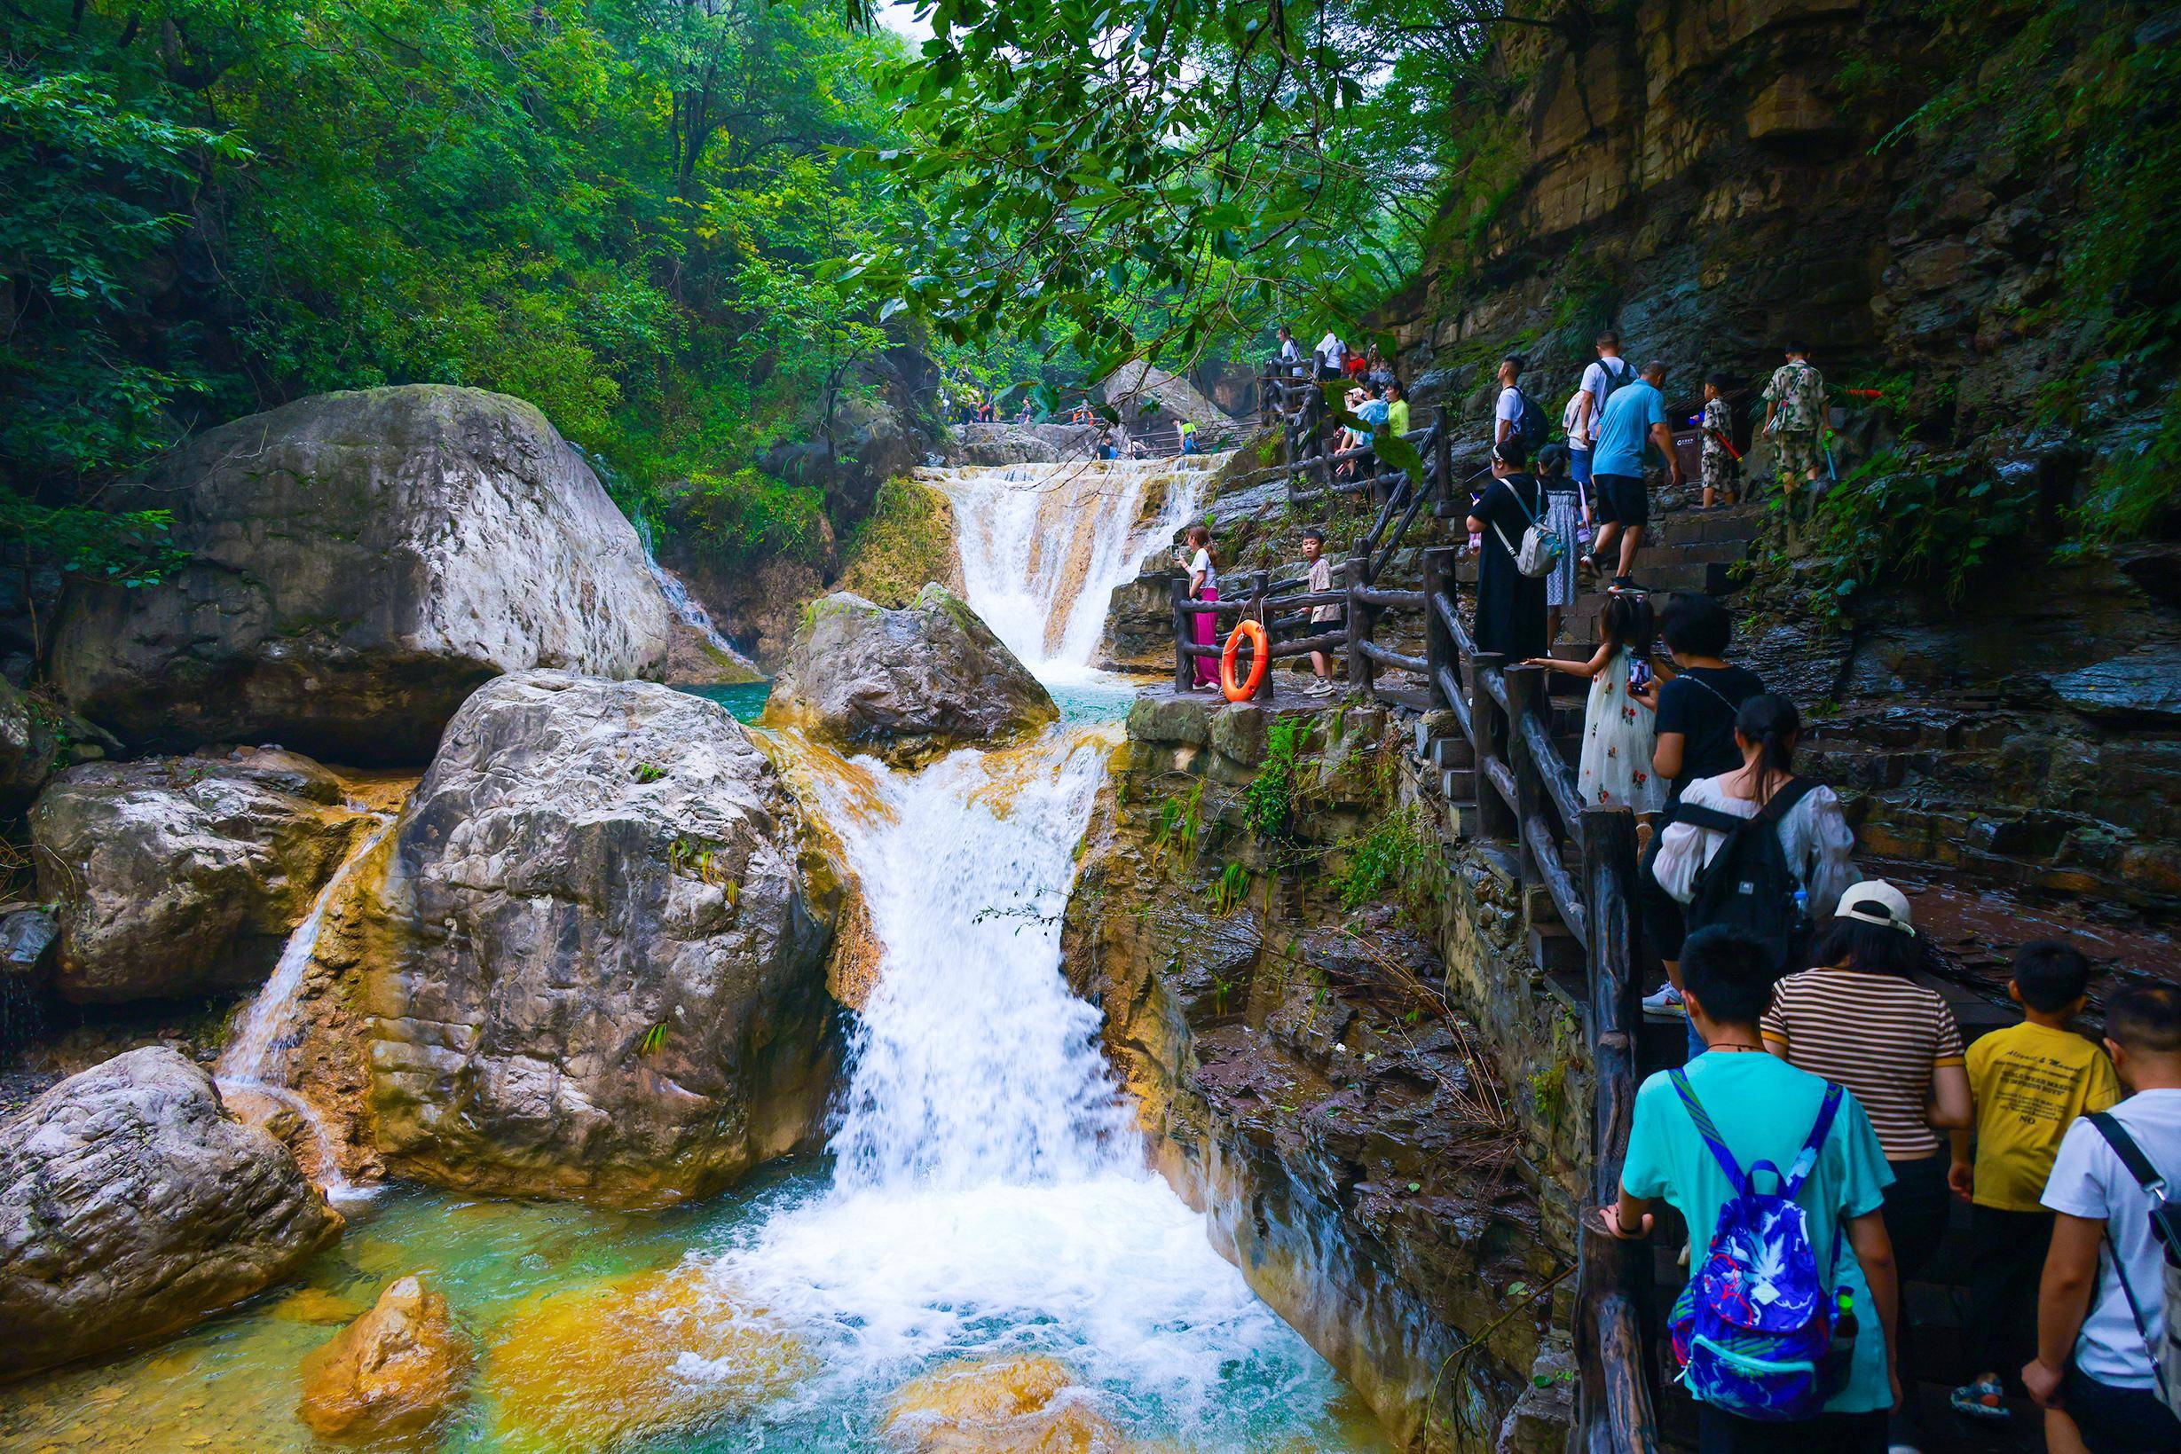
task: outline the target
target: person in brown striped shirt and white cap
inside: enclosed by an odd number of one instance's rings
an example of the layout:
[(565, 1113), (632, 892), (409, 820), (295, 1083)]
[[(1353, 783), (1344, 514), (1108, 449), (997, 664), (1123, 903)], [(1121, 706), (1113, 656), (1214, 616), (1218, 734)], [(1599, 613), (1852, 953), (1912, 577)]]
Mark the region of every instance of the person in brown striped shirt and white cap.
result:
[[(1788, 974), (1760, 1025), (1764, 1049), (1797, 1070), (1852, 1090), (1893, 1171), (1887, 1236), (1902, 1284), (1915, 1280), (1950, 1212), (1943, 1131), (1967, 1127), (1969, 1073), (1961, 1027), (1937, 990), (1913, 979), (1924, 964), (1908, 898), (1878, 879), (1841, 894), (1812, 950), (1817, 968)], [(1902, 1328), (1900, 1376), (1915, 1386), (1915, 1334)], [(1895, 1415), (1893, 1450), (1915, 1450), (1913, 1415)]]

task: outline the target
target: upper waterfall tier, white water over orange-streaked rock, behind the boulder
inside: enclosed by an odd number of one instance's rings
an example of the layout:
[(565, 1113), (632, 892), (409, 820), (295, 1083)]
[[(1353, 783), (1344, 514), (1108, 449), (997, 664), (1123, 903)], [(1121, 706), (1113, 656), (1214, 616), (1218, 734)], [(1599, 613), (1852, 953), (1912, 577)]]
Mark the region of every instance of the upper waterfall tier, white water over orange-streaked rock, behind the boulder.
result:
[[(1114, 586), (1195, 519), (1204, 460), (927, 471), (955, 506), (968, 604), (1040, 678), (1088, 671)], [(1154, 490), (1158, 495), (1154, 495)], [(1156, 512), (1138, 528), (1145, 506)]]

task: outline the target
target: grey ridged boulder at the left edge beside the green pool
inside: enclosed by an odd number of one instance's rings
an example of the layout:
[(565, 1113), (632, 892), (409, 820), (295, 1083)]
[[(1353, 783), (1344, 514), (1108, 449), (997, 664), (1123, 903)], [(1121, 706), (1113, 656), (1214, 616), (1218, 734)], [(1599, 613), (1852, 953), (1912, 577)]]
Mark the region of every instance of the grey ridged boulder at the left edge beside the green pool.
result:
[(0, 1127), (0, 1376), (153, 1338), (279, 1282), (340, 1214), (212, 1077), (144, 1049)]

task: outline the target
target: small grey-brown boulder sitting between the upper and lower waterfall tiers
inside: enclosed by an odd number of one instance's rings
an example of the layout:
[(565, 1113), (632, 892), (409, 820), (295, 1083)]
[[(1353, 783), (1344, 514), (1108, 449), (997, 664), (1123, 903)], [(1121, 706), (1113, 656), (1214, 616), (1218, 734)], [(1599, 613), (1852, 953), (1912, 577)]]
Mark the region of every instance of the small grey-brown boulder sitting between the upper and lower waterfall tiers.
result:
[(901, 610), (848, 593), (811, 602), (766, 713), (914, 763), (1019, 737), (1058, 708), (992, 628), (933, 582)]

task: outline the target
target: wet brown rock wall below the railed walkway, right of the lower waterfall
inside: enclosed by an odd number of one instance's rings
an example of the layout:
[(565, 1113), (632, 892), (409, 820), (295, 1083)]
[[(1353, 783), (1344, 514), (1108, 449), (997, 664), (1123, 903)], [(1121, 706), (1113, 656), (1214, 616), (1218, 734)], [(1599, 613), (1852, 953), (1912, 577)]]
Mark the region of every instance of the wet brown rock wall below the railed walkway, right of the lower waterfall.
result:
[[(1064, 968), (1106, 1011), (1160, 1168), (1258, 1295), (1405, 1447), (1477, 1447), (1540, 1356), (1566, 1260), (1525, 1171), (1544, 1116), (1501, 1083), (1433, 942), (1383, 902), (1341, 907), (1341, 865), (1391, 802), (1385, 713), (1333, 722), (1138, 698)], [(1243, 793), (1296, 730), (1300, 837), (1278, 848)]]

